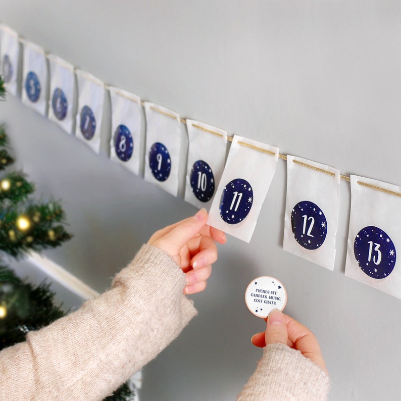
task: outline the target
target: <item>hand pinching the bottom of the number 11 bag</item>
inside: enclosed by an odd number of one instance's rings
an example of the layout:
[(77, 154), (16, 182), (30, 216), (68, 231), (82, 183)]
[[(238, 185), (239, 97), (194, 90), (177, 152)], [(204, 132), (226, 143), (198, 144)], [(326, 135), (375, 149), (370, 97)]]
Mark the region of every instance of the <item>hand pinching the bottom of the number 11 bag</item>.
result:
[(155, 232), (147, 242), (164, 250), (182, 269), (186, 294), (206, 288), (212, 264), (217, 260), (215, 241), (226, 242), (223, 231), (206, 225), (207, 217), (205, 209), (199, 210), (194, 216)]

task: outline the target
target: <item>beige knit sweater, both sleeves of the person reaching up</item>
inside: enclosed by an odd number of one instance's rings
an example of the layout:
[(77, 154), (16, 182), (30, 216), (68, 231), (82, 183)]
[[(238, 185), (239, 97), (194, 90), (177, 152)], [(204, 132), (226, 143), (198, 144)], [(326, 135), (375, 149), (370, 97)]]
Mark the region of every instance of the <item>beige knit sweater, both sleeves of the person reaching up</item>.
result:
[[(112, 288), (0, 353), (0, 400), (102, 400), (154, 359), (196, 315), (185, 276), (143, 245)], [(270, 345), (241, 400), (321, 400), (329, 379), (312, 361)]]

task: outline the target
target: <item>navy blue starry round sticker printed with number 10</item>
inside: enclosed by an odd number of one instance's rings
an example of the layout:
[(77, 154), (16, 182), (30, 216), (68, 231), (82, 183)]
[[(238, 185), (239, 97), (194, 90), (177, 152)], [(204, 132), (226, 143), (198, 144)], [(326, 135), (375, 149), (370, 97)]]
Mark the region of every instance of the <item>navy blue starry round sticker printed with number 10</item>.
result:
[(215, 177), (211, 167), (203, 160), (196, 161), (189, 177), (193, 194), (201, 202), (208, 202), (215, 193)]

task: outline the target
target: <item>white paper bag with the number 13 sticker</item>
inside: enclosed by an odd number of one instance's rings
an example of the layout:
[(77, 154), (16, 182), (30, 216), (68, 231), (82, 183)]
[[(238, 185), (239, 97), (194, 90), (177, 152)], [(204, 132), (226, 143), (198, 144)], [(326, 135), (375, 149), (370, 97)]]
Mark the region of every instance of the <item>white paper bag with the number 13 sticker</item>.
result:
[(352, 175), (345, 276), (401, 299), (401, 187)]

